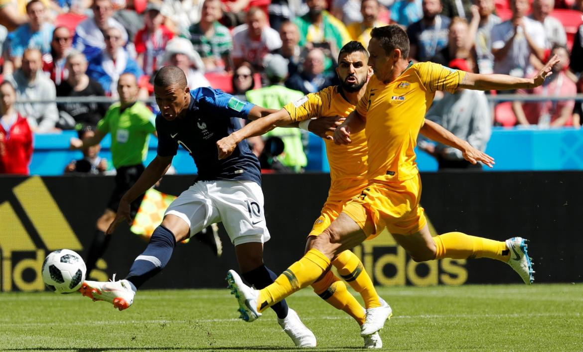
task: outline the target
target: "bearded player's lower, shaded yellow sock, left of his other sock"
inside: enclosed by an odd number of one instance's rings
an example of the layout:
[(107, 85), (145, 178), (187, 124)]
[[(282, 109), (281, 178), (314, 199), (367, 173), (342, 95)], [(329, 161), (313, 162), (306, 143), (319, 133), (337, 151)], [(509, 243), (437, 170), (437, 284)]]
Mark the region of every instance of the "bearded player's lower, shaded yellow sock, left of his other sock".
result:
[(335, 274), (330, 270), (326, 272), (322, 279), (312, 283), (312, 288), (314, 292), (322, 298), (322, 300), (328, 302), (332, 307), (346, 312), (346, 314), (352, 316), (359, 325), (364, 324), (364, 308), (360, 303), (354, 298), (348, 290), (346, 290), (346, 284), (340, 281)]

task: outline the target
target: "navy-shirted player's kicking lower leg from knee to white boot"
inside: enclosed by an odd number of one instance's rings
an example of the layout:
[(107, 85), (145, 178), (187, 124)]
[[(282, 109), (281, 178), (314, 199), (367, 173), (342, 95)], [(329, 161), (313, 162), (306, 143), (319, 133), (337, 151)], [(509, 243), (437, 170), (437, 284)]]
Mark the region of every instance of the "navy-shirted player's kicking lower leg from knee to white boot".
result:
[(188, 238), (189, 234), (186, 221), (167, 214), (154, 230), (146, 250), (135, 259), (126, 279), (115, 281), (114, 275), (108, 282), (85, 281), (79, 291), (94, 301), (110, 302), (120, 311), (128, 309), (134, 302), (137, 288), (166, 266), (176, 242)]

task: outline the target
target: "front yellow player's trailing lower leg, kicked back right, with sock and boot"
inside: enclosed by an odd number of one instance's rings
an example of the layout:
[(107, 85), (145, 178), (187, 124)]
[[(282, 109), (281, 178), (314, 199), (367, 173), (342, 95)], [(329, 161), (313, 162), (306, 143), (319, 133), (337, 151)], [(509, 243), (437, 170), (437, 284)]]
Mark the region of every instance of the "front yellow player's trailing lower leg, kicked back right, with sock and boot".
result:
[(521, 276), (524, 283), (532, 284), (534, 280), (526, 244), (528, 241), (520, 237), (512, 237), (504, 242), (459, 232), (431, 237), (427, 225), (417, 233), (393, 234), (393, 237), (416, 262), (441, 258), (491, 258), (508, 263)]

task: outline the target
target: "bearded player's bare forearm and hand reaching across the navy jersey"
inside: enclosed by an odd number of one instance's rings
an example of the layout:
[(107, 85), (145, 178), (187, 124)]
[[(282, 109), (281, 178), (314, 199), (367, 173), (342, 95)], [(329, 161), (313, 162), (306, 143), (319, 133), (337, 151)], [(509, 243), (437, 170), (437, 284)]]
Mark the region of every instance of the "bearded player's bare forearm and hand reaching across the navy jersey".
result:
[[(250, 112), (250, 119), (251, 114), (254, 114), (254, 109), (258, 108), (257, 106), (251, 109)], [(263, 108), (261, 108), (263, 109)], [(266, 110), (266, 109), (265, 109)], [(276, 128), (277, 126), (285, 126), (290, 124), (291, 118), (289, 112), (285, 109), (277, 110), (273, 112), (273, 114), (269, 114), (265, 117), (256, 117), (259, 112), (255, 112), (254, 117), (256, 118), (255, 121), (249, 122), (243, 128), (238, 131), (231, 133), (229, 136), (225, 138), (217, 140), (217, 149), (219, 150), (219, 160), (224, 159), (230, 156), (233, 153), (233, 150), (237, 147), (237, 145), (241, 142), (241, 140), (254, 137), (254, 136), (261, 136), (264, 133), (271, 131), (272, 129)]]

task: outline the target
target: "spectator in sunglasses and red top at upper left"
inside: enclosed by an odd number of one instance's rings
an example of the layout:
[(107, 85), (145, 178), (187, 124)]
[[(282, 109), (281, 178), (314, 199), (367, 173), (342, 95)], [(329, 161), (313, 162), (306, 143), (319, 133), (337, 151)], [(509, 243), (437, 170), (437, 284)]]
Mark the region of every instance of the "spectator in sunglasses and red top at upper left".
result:
[(68, 72), (65, 69), (65, 60), (71, 46), (73, 37), (67, 27), (57, 27), (52, 32), (51, 52), (43, 55), (43, 71), (48, 72), (55, 85), (67, 79)]

